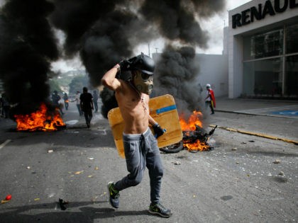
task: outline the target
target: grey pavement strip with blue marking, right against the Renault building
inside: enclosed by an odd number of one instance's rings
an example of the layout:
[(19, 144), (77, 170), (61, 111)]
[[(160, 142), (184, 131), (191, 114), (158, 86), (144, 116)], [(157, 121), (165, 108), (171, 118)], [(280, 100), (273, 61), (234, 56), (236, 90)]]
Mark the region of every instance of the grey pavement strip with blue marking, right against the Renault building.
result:
[(217, 112), (298, 118), (298, 101), (216, 98)]

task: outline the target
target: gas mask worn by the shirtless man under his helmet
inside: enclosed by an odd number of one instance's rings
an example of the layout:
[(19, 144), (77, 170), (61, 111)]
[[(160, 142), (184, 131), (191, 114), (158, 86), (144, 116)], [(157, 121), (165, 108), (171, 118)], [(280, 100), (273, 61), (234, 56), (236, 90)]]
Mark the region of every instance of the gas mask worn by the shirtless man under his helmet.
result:
[(133, 85), (138, 91), (150, 95), (153, 91), (153, 75), (135, 71), (133, 72)]

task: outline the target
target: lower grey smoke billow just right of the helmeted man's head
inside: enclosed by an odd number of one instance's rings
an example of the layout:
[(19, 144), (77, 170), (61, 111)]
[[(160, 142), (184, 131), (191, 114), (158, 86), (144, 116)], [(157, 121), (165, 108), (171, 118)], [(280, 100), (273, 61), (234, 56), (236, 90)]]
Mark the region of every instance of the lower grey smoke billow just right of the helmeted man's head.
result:
[(194, 81), (199, 73), (194, 57), (192, 47), (176, 49), (168, 45), (155, 69), (155, 92), (159, 95), (170, 93), (175, 98), (177, 110), (184, 113), (199, 110), (201, 101), (198, 84)]

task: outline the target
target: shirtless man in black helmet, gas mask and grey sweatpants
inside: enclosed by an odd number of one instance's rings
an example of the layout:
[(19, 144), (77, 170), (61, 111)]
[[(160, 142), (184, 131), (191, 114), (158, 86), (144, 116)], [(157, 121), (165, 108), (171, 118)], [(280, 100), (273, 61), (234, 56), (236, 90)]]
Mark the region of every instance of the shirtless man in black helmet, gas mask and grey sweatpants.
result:
[[(101, 83), (115, 91), (121, 115), (124, 120), (123, 146), (126, 156), (128, 175), (120, 181), (109, 182), (109, 200), (113, 207), (119, 207), (119, 192), (138, 185), (143, 178), (145, 167), (150, 177), (150, 206), (148, 212), (170, 217), (171, 210), (160, 203), (160, 185), (163, 175), (162, 161), (158, 142), (153, 136), (163, 134), (163, 130), (149, 115), (149, 95), (153, 90), (153, 72), (155, 64), (147, 55), (138, 55), (116, 64), (101, 79)], [(117, 79), (120, 71), (131, 71), (131, 79)]]

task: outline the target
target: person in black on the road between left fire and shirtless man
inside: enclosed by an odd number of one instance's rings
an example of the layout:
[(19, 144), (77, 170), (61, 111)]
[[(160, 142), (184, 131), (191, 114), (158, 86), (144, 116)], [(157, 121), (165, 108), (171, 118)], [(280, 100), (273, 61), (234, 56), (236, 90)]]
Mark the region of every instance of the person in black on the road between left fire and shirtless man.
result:
[(80, 101), (81, 109), (84, 112), (86, 125), (87, 127), (90, 127), (90, 122), (92, 120), (92, 110), (94, 109), (94, 107), (93, 107), (92, 94), (88, 93), (87, 87), (83, 88), (83, 93), (81, 94), (81, 96), (79, 96), (79, 101)]

